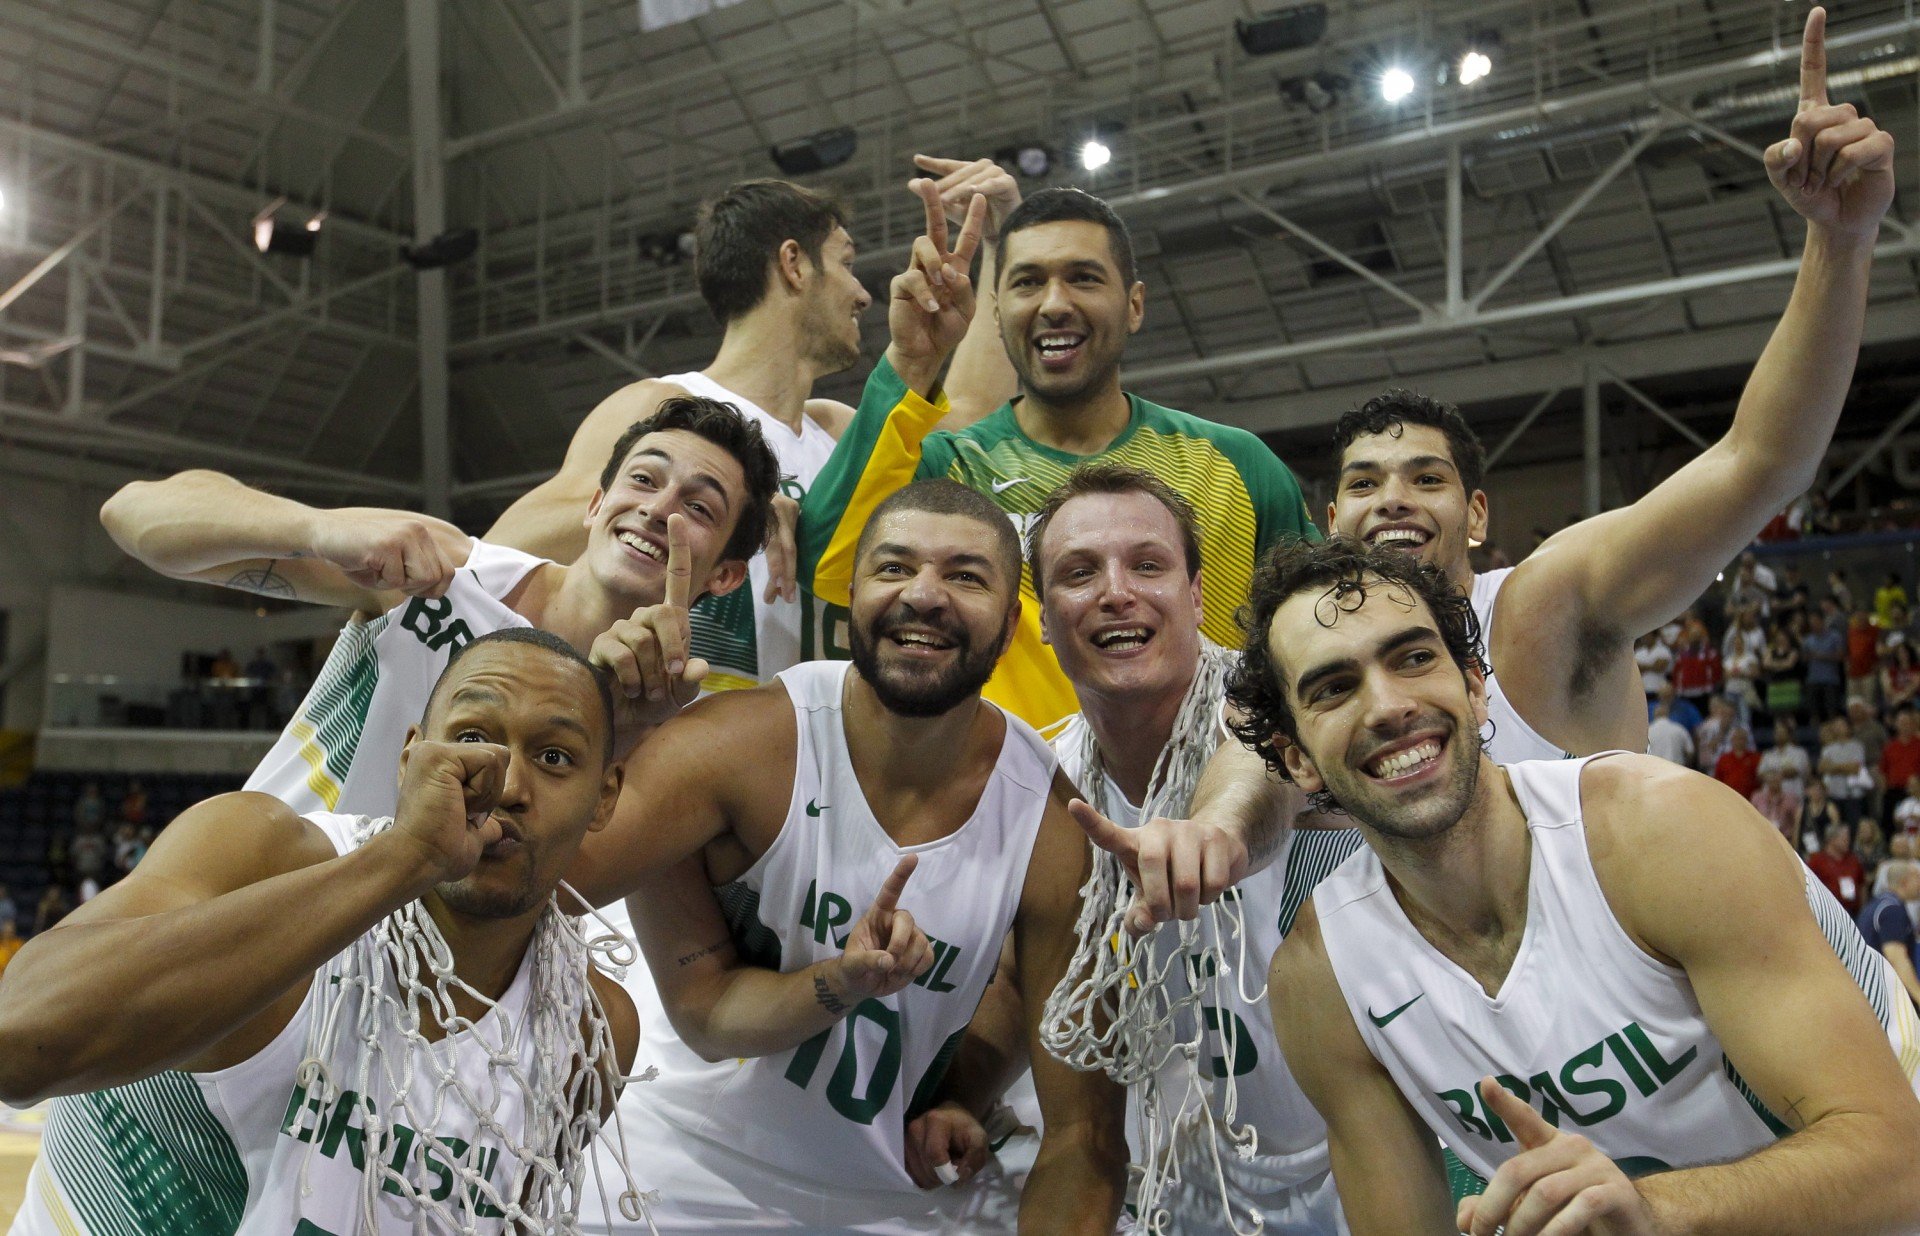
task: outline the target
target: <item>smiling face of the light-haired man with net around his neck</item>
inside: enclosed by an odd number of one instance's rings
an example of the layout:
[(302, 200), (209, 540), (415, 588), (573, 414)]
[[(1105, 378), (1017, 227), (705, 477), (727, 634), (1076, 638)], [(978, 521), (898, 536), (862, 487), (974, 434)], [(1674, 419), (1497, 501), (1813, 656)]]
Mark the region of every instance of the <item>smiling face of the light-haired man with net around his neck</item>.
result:
[(1041, 541), (1041, 630), (1073, 689), (1185, 693), (1200, 662), (1200, 578), (1179, 520), (1148, 493), (1068, 501)]

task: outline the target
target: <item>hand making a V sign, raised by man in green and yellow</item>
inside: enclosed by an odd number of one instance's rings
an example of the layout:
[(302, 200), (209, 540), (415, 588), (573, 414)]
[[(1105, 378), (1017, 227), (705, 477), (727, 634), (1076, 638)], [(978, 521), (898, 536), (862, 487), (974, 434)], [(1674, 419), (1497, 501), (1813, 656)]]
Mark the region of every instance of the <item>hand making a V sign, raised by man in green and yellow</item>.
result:
[(893, 280), (887, 301), (893, 344), (887, 347), (887, 361), (910, 388), (927, 393), (973, 321), (970, 271), (987, 225), (987, 200), (972, 200), (960, 242), (948, 250), (947, 209), (939, 190), (933, 180), (914, 180), (914, 192), (925, 207), (927, 230), (914, 242), (906, 271)]

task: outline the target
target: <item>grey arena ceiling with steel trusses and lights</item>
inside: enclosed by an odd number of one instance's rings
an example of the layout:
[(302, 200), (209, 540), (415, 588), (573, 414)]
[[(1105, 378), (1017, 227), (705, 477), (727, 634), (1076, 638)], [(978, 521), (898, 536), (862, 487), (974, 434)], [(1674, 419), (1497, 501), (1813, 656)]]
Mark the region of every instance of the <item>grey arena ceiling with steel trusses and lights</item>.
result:
[[(918, 228), (912, 152), (1050, 148), (1054, 182), (1137, 228), (1129, 384), (1283, 447), (1386, 384), (1490, 440), (1548, 428), (1590, 372), (1711, 436), (1801, 244), (1759, 165), (1797, 98), (1797, 0), (1331, 0), (1315, 44), (1271, 56), (1225, 0), (741, 0), (641, 29), (708, 8), (0, 2), (0, 466), (430, 503), (434, 315), (399, 259), (420, 192), (480, 242), (445, 276), (445, 438), (451, 499), (484, 518), (607, 392), (705, 363), (718, 330), (660, 240), (774, 175), (770, 146), (843, 125), (856, 154), (804, 180), (852, 205), (872, 288)], [(1841, 0), (1830, 44), (1836, 100), (1901, 142), (1845, 430), (1870, 434), (1920, 409), (1920, 17)], [(1469, 88), (1471, 46), (1494, 69)], [(1398, 106), (1390, 63), (1417, 81)], [(1085, 173), (1092, 134), (1114, 161)], [(311, 257), (252, 246), (278, 200), (296, 228), (324, 211)], [(883, 334), (876, 309), (876, 355)]]

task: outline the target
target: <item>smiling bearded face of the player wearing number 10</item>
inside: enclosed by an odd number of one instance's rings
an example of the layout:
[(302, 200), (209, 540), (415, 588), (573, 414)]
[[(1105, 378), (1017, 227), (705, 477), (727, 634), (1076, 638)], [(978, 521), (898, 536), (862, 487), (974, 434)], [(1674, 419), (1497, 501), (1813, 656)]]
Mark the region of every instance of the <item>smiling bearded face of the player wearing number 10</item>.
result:
[(854, 564), (849, 645), (887, 710), (941, 716), (975, 697), (1006, 651), (1020, 578), (968, 514), (893, 511)]

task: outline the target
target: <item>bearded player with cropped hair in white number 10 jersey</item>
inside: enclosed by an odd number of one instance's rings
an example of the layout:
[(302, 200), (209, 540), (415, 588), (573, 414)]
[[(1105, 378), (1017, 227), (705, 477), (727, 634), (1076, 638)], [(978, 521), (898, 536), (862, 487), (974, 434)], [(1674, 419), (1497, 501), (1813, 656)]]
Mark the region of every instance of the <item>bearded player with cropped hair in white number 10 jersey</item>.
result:
[[(641, 1063), (660, 1077), (620, 1113), (662, 1188), (660, 1232), (950, 1221), (956, 1198), (906, 1173), (906, 1123), (931, 1104), (1010, 931), (1021, 990), (1058, 983), (1089, 864), (1046, 743), (979, 697), (1018, 578), (998, 507), (945, 480), (908, 486), (858, 549), (851, 664), (701, 701), (636, 752), (634, 793), (574, 883), (595, 900), (637, 889), (628, 910), (672, 1021), (672, 1034), (649, 1025)], [(851, 908), (902, 856), (918, 862), (902, 904), (931, 967), (862, 998), (833, 958)], [(1029, 1031), (1037, 1017), (1029, 1000)], [(1119, 1088), (1050, 1058), (1035, 1086), (1046, 1134), (1021, 1230), (1112, 1232)], [(591, 1209), (584, 1221), (597, 1230)]]

